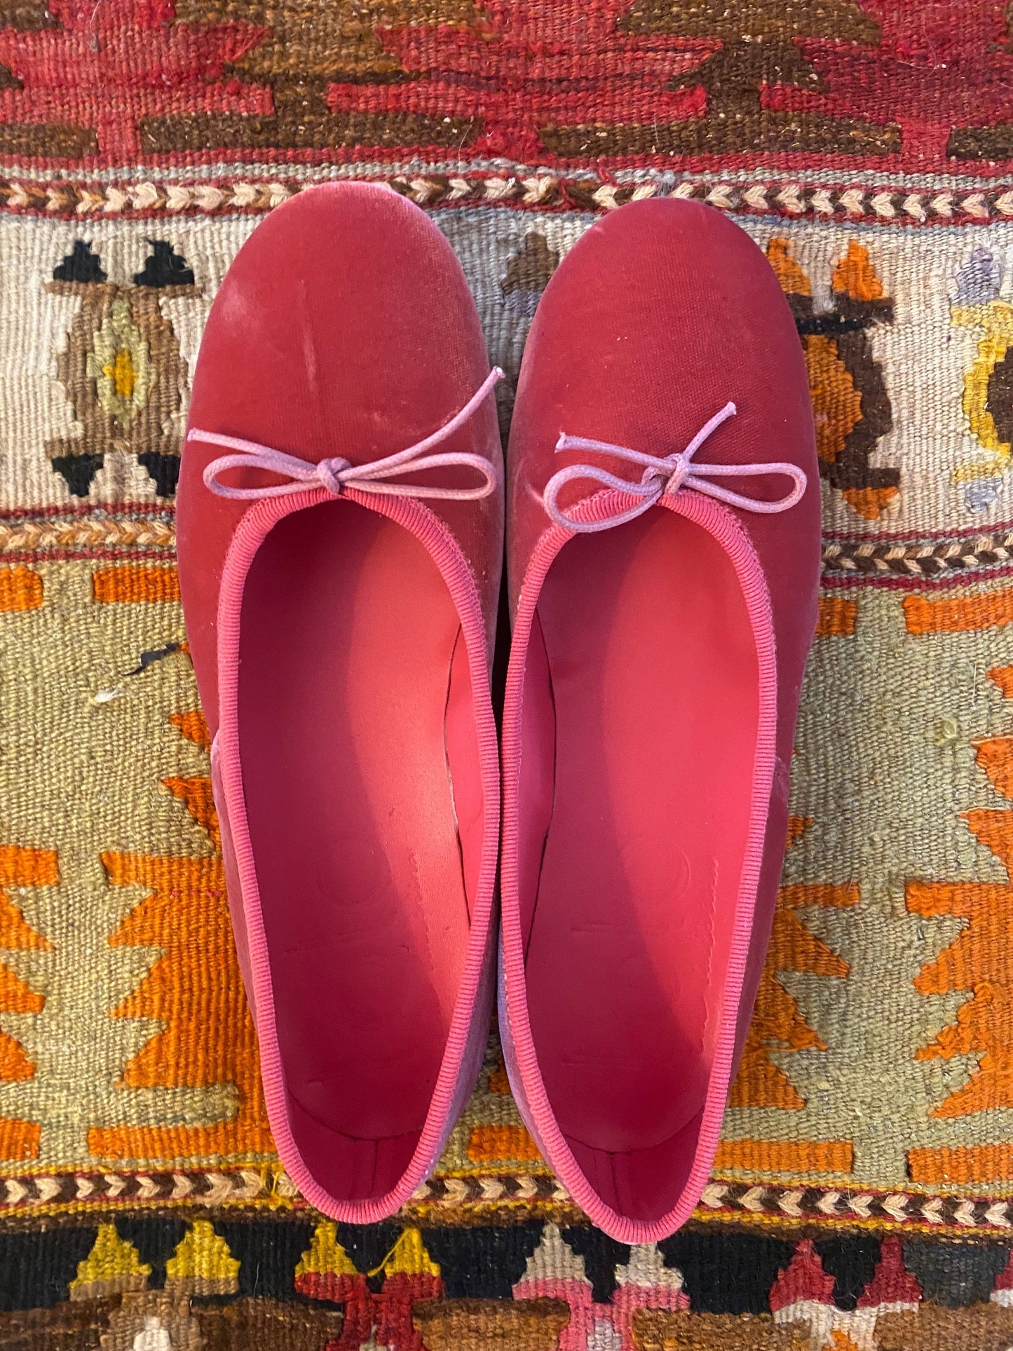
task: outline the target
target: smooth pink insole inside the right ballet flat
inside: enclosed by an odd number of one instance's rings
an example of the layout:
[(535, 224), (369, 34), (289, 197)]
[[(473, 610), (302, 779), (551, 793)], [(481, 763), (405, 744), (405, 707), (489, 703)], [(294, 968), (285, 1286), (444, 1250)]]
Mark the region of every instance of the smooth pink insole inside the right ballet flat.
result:
[(529, 667), (539, 1067), (585, 1170), (613, 1178), (594, 1177), (605, 1198), (663, 1213), (652, 1178), (669, 1190), (689, 1167), (706, 1094), (752, 788), (756, 653), (728, 557), (669, 511), (578, 535), (542, 589)]

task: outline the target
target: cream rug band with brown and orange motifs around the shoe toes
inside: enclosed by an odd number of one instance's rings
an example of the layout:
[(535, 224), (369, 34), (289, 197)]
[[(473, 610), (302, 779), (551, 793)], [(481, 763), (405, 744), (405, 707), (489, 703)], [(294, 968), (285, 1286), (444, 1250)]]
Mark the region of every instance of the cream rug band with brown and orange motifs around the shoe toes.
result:
[[(0, 215), (4, 509), (172, 503), (203, 324), (257, 219), (162, 215), (154, 230)], [(489, 208), (435, 219), (511, 377), (506, 417), (538, 296), (593, 216), (500, 211), (494, 230)], [(736, 219), (796, 315), (828, 544), (924, 546), (1005, 527), (1013, 222), (870, 236), (843, 222)]]

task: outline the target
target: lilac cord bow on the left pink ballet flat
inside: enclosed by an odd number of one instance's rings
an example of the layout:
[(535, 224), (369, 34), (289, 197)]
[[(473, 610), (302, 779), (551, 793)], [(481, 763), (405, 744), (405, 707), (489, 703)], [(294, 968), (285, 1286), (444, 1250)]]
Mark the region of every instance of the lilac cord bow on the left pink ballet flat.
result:
[[(186, 434), (186, 440), (203, 440), (209, 446), (220, 446), (231, 451), (212, 459), (204, 470), (204, 485), (219, 497), (230, 497), (239, 501), (257, 501), (263, 497), (286, 497), (289, 493), (301, 493), (307, 488), (323, 488), (334, 497), (340, 497), (346, 488), (354, 488), (361, 493), (388, 493), (393, 497), (439, 497), (452, 501), (475, 501), (488, 497), (496, 490), (498, 474), (496, 466), (484, 455), (473, 455), (467, 451), (442, 451), (436, 455), (427, 454), (434, 446), (439, 446), (447, 436), (462, 427), (469, 417), (481, 407), (496, 385), (502, 380), (504, 373), (494, 366), (481, 386), (469, 399), (461, 412), (454, 413), (438, 431), (424, 436), (413, 446), (386, 455), (384, 459), (374, 459), (367, 465), (353, 465), (350, 461), (336, 455), (332, 459), (321, 459), (311, 463), (300, 459), (298, 455), (289, 455), (271, 446), (261, 446), (255, 440), (242, 440), (239, 436), (223, 436), (215, 431), (201, 431), (192, 427)], [(392, 484), (388, 480), (404, 473), (417, 473), (423, 469), (442, 469), (446, 465), (474, 469), (482, 476), (482, 482), (475, 488), (434, 488), (425, 484)], [(286, 484), (273, 484), (269, 488), (232, 488), (222, 482), (220, 474), (230, 469), (263, 469), (271, 474), (288, 478)]]

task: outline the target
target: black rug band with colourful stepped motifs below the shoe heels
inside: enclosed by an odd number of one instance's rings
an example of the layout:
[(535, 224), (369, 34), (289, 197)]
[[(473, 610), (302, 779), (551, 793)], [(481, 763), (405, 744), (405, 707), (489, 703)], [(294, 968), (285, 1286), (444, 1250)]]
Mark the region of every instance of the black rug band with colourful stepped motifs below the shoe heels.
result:
[[(690, 1227), (624, 1247), (551, 1221), (462, 1229), (219, 1217), (68, 1224), (11, 1233), (0, 1248), (9, 1310), (0, 1336), (39, 1348), (894, 1351), (950, 1339), (999, 1351), (1013, 1335), (1013, 1263), (1001, 1244)], [(729, 1269), (747, 1275), (732, 1282)]]

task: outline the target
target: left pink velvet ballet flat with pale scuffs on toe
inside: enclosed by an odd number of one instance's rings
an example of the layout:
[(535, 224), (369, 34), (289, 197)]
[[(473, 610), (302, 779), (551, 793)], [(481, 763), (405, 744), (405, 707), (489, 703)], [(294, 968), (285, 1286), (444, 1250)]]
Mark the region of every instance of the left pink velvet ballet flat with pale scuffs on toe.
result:
[(378, 186), (273, 211), (215, 299), (182, 603), (271, 1131), (373, 1221), (434, 1167), (493, 996), (502, 457), (444, 236)]

